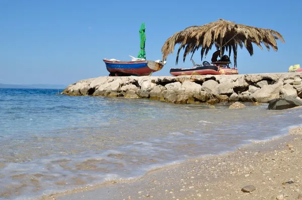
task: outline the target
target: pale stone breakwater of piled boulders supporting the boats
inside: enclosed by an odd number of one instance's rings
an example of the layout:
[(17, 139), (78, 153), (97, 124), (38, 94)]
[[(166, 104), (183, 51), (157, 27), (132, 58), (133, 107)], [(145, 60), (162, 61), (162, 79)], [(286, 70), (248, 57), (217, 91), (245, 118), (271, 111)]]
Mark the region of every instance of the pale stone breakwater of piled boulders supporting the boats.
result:
[(302, 98), (302, 72), (192, 76), (101, 76), (68, 85), (61, 94), (149, 98), (174, 104), (269, 103)]

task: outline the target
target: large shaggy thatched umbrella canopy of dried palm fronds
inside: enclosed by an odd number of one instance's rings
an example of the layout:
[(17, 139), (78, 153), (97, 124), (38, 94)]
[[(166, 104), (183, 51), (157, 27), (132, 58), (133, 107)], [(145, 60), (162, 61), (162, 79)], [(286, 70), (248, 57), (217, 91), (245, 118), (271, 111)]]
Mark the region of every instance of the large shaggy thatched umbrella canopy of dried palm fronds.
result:
[[(181, 49), (185, 49), (183, 61), (185, 61), (188, 53), (195, 53), (201, 48), (201, 60), (203, 55), (207, 55), (213, 45), (220, 48), (220, 57), (224, 50), (229, 52), (229, 57), (233, 49), (234, 65), (237, 66), (237, 47), (243, 48), (243, 45), (253, 55), (253, 45), (256, 44), (261, 49), (261, 43), (270, 50), (270, 46), (274, 51), (278, 50), (276, 40), (279, 39), (285, 43), (282, 35), (271, 29), (262, 29), (234, 22), (219, 19), (218, 21), (205, 24), (203, 26), (191, 26), (183, 31), (175, 33), (163, 45), (163, 61), (167, 60), (170, 53), (173, 53), (176, 44), (180, 44), (177, 52), (176, 64)], [(191, 59), (192, 59), (191, 56)]]

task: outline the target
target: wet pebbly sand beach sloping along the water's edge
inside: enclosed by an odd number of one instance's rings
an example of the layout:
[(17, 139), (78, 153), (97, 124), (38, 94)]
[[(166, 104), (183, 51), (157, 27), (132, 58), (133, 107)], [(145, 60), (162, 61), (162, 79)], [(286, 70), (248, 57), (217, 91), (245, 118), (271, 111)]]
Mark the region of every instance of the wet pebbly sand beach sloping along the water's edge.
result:
[[(154, 170), (138, 180), (43, 199), (298, 199), (302, 193), (301, 144), (302, 127), (298, 127), (285, 137)], [(246, 185), (256, 189), (241, 191)]]

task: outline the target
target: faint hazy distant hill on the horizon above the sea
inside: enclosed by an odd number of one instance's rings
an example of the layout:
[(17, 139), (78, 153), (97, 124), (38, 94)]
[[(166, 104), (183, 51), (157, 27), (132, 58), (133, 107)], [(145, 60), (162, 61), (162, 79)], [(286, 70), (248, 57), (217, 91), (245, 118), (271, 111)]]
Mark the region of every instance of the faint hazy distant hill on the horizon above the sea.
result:
[(2, 84), (0, 83), (0, 88), (20, 88), (20, 89), (65, 89), (67, 85), (62, 84)]

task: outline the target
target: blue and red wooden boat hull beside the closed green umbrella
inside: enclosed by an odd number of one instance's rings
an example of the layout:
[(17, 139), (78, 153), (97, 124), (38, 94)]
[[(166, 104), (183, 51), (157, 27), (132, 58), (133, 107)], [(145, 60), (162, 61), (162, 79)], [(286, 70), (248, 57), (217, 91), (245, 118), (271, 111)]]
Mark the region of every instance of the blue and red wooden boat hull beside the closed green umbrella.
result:
[(110, 75), (114, 76), (146, 76), (152, 72), (161, 70), (164, 67), (163, 63), (152, 60), (140, 61), (116, 61), (103, 59)]

